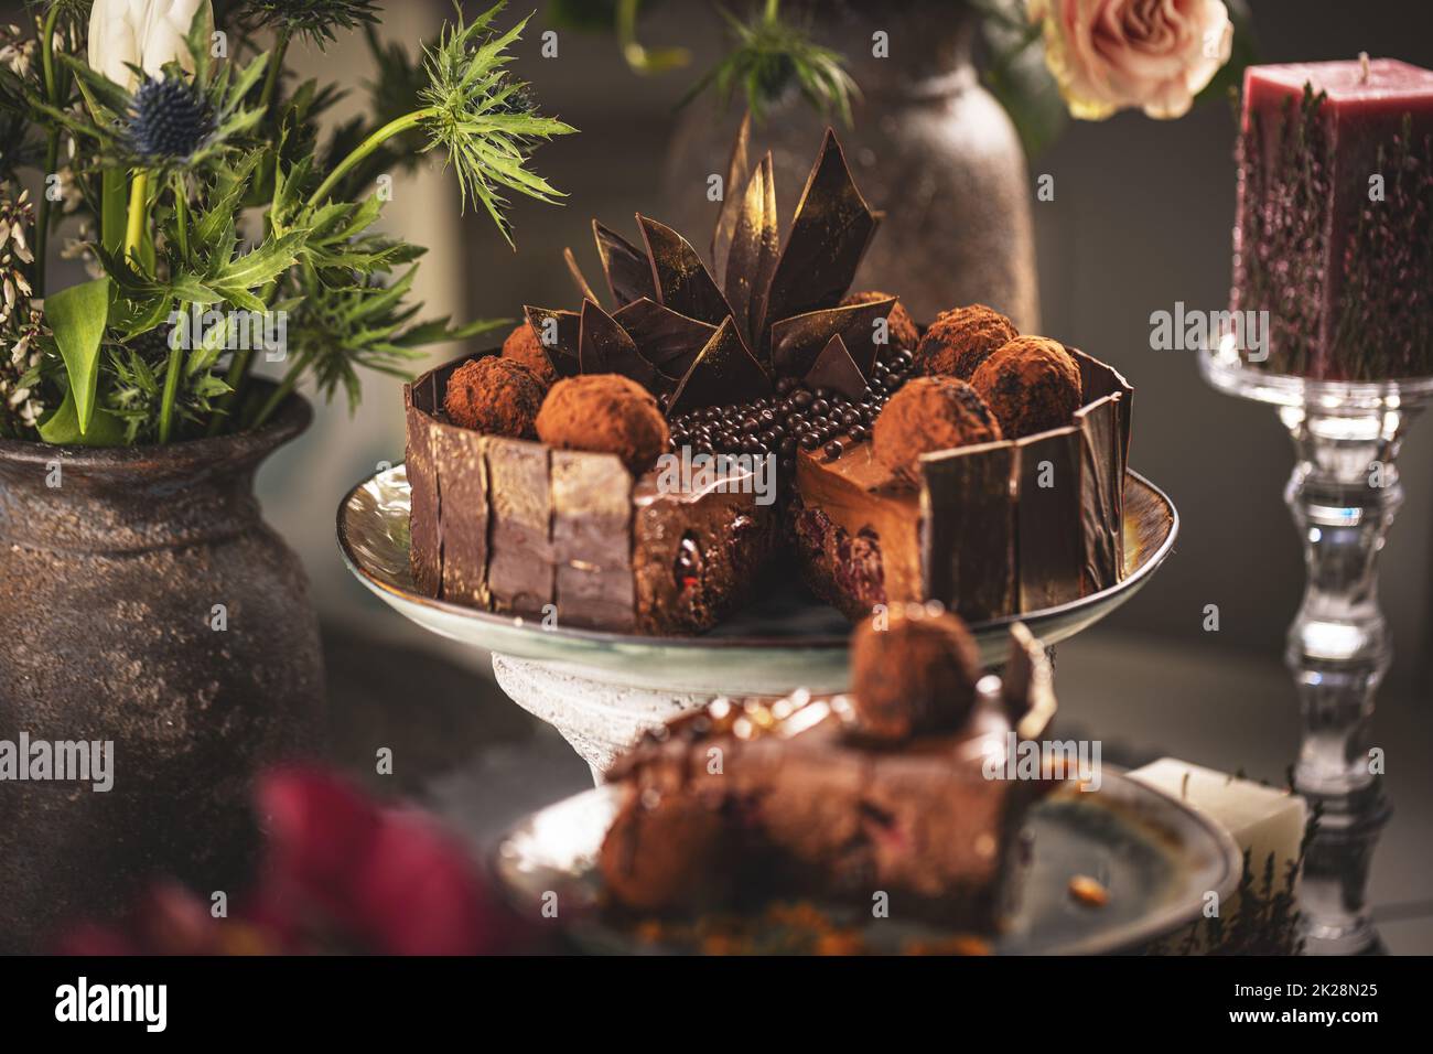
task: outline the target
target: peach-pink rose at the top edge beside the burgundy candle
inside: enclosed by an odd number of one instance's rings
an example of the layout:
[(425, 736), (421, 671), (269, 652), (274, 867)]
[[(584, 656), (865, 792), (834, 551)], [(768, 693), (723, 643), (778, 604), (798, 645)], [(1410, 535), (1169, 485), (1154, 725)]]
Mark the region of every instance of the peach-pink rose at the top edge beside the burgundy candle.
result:
[(1136, 106), (1182, 118), (1234, 43), (1221, 0), (1026, 0), (1026, 9), (1043, 23), (1045, 62), (1083, 120)]

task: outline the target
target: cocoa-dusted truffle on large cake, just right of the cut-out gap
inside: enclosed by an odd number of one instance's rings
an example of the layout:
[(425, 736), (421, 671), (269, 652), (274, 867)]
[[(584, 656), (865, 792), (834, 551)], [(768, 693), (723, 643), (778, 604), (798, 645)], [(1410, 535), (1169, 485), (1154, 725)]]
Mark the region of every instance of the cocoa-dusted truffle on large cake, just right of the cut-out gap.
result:
[(973, 387), (954, 377), (916, 377), (891, 396), (871, 427), (876, 459), (906, 480), (931, 450), (995, 443), (1000, 423)]

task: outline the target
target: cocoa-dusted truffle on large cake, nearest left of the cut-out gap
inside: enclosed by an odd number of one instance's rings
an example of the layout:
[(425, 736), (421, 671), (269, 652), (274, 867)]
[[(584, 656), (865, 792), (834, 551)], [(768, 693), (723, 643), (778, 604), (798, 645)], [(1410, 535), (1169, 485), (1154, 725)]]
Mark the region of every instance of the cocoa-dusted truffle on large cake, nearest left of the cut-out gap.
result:
[(669, 440), (652, 394), (616, 373), (553, 384), (537, 414), (537, 436), (563, 450), (615, 453), (633, 473), (651, 469)]

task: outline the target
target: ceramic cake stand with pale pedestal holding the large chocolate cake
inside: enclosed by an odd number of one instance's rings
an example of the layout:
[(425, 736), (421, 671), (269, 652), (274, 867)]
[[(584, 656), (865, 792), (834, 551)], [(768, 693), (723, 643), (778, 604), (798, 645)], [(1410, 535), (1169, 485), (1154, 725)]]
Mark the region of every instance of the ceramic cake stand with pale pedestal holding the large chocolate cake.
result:
[[(1125, 575), (1101, 592), (1019, 617), (1046, 645), (1092, 625), (1129, 599), (1169, 555), (1179, 521), (1152, 483), (1125, 480)], [(338, 508), (348, 569), (418, 625), (490, 651), (499, 685), (547, 721), (600, 780), (646, 728), (718, 695), (781, 695), (847, 687), (850, 625), (795, 582), (768, 584), (738, 618), (702, 637), (636, 637), (543, 628), (420, 594), (408, 569), (408, 482), (400, 465), (355, 486)], [(1016, 618), (972, 625), (986, 665), (1005, 661)]]

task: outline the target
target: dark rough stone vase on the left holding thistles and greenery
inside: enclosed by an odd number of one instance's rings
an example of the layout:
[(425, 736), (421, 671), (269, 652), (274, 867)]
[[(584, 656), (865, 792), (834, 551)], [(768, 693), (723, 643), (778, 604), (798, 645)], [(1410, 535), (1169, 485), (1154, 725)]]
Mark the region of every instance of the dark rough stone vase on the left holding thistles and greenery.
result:
[(0, 951), (44, 949), (156, 876), (242, 889), (254, 774), (321, 734), (308, 579), (252, 488), (311, 419), (292, 397), (241, 436), (0, 442), (0, 747), (113, 743), (107, 792), (0, 780)]

